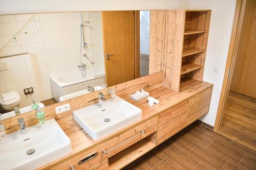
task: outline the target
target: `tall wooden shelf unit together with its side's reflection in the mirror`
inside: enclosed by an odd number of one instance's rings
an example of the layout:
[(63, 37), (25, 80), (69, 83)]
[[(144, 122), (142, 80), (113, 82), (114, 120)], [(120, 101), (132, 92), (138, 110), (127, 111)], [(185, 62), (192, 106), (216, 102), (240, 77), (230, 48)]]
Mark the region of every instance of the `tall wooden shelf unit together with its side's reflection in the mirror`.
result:
[(150, 72), (164, 71), (164, 87), (203, 79), (211, 10), (151, 11)]

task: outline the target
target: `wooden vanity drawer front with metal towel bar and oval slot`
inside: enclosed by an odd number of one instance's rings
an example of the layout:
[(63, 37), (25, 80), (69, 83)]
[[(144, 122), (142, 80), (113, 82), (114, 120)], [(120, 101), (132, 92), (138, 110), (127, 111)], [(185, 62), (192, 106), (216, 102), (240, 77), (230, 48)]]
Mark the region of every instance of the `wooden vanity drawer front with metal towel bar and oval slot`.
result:
[[(140, 125), (127, 130), (97, 147), (75, 156), (51, 169), (70, 170), (71, 165), (77, 169), (108, 169), (108, 158), (131, 147), (148, 135), (157, 131), (157, 117), (153, 117)], [(156, 145), (156, 143), (154, 143)], [(105, 153), (104, 153), (105, 152)]]

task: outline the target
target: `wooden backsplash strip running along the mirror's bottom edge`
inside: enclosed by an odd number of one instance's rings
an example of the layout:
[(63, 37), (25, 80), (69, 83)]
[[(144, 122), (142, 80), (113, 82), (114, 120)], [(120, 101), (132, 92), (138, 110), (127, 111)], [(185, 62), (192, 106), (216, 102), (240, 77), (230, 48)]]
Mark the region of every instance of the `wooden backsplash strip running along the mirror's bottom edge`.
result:
[[(139, 79), (131, 80), (125, 83), (121, 83), (109, 88), (116, 89), (117, 95), (122, 97), (124, 95), (132, 94), (136, 90), (141, 90), (141, 88), (146, 88), (153, 85), (162, 86), (163, 85), (163, 71), (156, 72), (155, 74), (148, 75)], [(68, 116), (72, 114), (74, 110), (81, 109), (83, 107), (92, 105), (94, 103), (98, 102), (98, 93), (102, 92), (103, 94), (107, 94), (108, 88), (95, 91), (89, 94), (84, 94), (82, 96), (78, 96), (77, 98), (73, 98), (67, 101), (63, 101), (60, 103), (56, 103), (50, 106), (46, 106), (42, 108), (42, 110), (45, 112), (46, 120), (49, 120), (51, 118), (58, 119), (63, 116)], [(108, 96), (110, 98), (110, 96)], [(55, 107), (70, 103), (70, 111), (63, 112), (61, 114), (56, 115), (55, 113)], [(26, 127), (38, 124), (38, 119), (36, 118), (35, 111), (31, 111), (28, 113), (20, 114), (18, 116), (10, 117), (8, 119), (1, 120), (0, 123), (2, 123), (6, 128), (6, 133), (11, 133), (14, 131), (19, 130), (19, 126), (17, 123), (17, 119), (23, 117), (25, 119)]]

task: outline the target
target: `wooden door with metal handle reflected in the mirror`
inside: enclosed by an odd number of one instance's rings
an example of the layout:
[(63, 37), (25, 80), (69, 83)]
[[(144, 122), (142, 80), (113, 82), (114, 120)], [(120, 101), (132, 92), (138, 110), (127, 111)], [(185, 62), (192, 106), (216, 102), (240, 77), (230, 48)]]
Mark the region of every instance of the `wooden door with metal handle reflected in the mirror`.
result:
[(108, 87), (135, 79), (135, 11), (103, 11), (102, 27)]

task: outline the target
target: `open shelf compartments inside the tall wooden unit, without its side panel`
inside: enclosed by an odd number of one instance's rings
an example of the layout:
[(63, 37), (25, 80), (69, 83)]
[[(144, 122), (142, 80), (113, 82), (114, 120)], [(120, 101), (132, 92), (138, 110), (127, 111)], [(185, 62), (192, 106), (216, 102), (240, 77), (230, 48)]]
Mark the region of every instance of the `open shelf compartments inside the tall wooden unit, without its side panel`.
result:
[(210, 10), (186, 10), (181, 79), (203, 79)]

